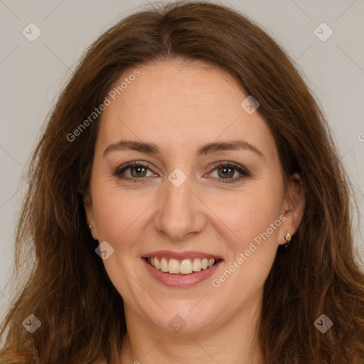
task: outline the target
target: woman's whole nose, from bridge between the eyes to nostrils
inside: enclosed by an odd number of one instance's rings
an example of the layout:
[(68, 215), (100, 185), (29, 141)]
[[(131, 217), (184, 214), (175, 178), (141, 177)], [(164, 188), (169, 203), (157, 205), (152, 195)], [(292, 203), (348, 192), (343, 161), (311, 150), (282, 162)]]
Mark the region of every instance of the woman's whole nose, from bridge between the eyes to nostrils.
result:
[(205, 218), (201, 202), (192, 190), (193, 178), (181, 169), (176, 168), (168, 175), (155, 223), (156, 228), (172, 240), (186, 239), (186, 235), (203, 229)]

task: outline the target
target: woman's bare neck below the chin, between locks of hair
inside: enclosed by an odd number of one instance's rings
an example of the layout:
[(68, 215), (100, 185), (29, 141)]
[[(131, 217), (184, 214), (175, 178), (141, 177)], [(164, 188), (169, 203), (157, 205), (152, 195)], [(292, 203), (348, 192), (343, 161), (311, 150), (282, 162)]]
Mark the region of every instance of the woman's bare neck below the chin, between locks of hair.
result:
[(257, 340), (261, 302), (262, 292), (237, 314), (226, 313), (223, 325), (188, 333), (162, 330), (125, 305), (122, 363), (263, 364)]

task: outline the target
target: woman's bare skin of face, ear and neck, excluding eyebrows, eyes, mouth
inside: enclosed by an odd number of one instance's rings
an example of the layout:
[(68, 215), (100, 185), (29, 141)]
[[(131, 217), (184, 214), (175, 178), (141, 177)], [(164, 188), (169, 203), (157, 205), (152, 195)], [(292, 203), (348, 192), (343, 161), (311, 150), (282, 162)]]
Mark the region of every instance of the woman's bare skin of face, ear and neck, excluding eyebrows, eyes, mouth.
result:
[[(102, 114), (90, 194), (84, 198), (94, 238), (114, 248), (103, 262), (124, 300), (128, 333), (122, 363), (263, 363), (257, 346), (263, 284), (278, 245), (299, 226), (302, 191), (289, 181), (285, 193), (272, 134), (257, 112), (242, 109), (247, 95), (228, 73), (180, 60), (137, 69), (139, 77)], [(102, 156), (120, 139), (153, 142), (161, 154), (119, 150)], [(247, 141), (263, 156), (248, 149), (196, 156), (203, 144), (232, 140)], [(114, 176), (131, 161), (150, 166), (134, 177), (141, 183)], [(216, 161), (239, 164), (250, 176), (218, 183), (226, 179)], [(175, 168), (187, 178), (178, 188), (168, 181)], [(231, 179), (240, 176), (233, 171)], [(131, 172), (122, 176), (133, 178)], [(280, 215), (282, 225), (220, 287), (213, 287), (212, 279)], [(155, 250), (208, 252), (223, 257), (223, 263), (196, 287), (165, 287), (141, 260)], [(176, 314), (186, 323), (179, 333), (168, 325)]]

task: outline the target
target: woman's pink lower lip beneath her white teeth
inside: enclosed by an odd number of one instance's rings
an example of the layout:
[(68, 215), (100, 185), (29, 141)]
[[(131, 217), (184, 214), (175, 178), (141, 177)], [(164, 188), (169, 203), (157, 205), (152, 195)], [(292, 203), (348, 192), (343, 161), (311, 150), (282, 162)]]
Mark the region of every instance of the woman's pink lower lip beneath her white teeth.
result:
[(214, 272), (216, 272), (216, 269), (218, 269), (218, 267), (220, 266), (220, 263), (223, 262), (223, 260), (220, 260), (215, 265), (213, 265), (213, 267), (201, 269), (200, 272), (195, 272), (191, 274), (170, 274), (168, 272), (165, 273), (159, 269), (152, 267), (151, 264), (146, 262), (146, 259), (142, 258), (142, 260), (146, 265), (146, 269), (151, 274), (151, 277), (167, 287), (177, 288), (188, 288), (197, 286), (201, 282), (204, 282), (206, 279), (211, 277)]

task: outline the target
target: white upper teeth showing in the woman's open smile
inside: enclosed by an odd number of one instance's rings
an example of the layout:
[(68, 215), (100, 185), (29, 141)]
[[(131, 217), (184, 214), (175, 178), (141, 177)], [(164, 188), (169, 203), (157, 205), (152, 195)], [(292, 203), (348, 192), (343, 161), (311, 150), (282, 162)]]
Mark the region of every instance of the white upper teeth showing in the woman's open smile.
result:
[(181, 261), (177, 259), (169, 259), (169, 262), (166, 258), (157, 258), (152, 257), (148, 258), (147, 261), (154, 268), (160, 269), (162, 272), (169, 272), (174, 274), (191, 274), (192, 272), (199, 272), (201, 269), (207, 269), (215, 264), (215, 259), (207, 259), (207, 258), (196, 258), (193, 259), (183, 259)]

